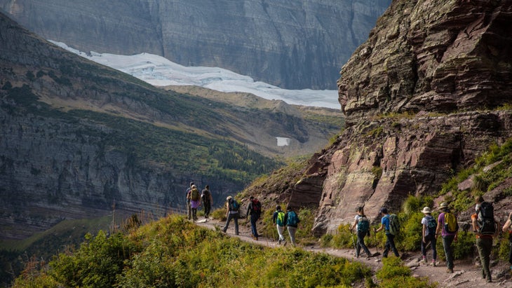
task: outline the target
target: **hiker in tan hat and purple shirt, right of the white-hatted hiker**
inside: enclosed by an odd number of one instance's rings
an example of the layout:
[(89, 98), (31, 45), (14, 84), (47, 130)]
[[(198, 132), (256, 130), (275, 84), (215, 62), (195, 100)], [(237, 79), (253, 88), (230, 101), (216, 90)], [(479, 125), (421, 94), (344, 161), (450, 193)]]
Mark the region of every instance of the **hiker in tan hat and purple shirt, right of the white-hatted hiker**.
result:
[(436, 237), (441, 234), (443, 237), (443, 248), (446, 257), (446, 273), (453, 273), (453, 248), (452, 243), (457, 241), (457, 231), (459, 225), (457, 224), (457, 216), (450, 212), (448, 204), (443, 202), (439, 206), (442, 211), (438, 216), (438, 227), (436, 228)]

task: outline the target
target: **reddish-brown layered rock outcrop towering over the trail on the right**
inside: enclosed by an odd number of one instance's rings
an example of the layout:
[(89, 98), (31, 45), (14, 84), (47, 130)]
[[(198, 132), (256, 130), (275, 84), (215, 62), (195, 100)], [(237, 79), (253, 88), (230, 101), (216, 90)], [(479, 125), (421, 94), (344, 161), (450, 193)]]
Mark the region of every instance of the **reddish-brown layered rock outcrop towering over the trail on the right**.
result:
[(346, 130), (290, 189), (317, 233), (433, 195), (511, 137), (511, 24), (511, 1), (393, 1), (342, 68)]

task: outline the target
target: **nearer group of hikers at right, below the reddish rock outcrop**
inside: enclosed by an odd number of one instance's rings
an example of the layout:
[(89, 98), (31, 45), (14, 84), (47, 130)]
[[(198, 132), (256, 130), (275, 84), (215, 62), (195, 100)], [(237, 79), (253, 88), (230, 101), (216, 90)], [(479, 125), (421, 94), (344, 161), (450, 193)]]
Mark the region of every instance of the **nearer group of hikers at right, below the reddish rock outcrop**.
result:
[[(480, 257), (480, 265), (482, 267), (482, 277), (487, 282), (492, 282), (492, 275), (490, 272), (490, 254), (492, 250), (492, 239), (499, 235), (499, 221), (494, 218), (494, 208), (492, 203), (485, 202), (482, 196), (475, 198), (475, 212), (471, 215), (471, 228), (476, 236), (476, 247)], [(432, 249), (431, 266), (436, 266), (437, 251), (436, 242), (440, 236), (443, 240), (443, 249), (445, 252), (447, 273), (453, 273), (454, 256), (453, 256), (453, 242), (457, 241), (457, 232), (459, 231), (459, 224), (457, 215), (450, 211), (447, 203), (441, 203), (439, 206), (440, 214), (437, 218), (432, 216), (430, 207), (424, 207), (421, 211), (424, 214), (422, 218), (422, 261), (428, 263), (426, 258), (427, 247), (430, 244)], [(366, 247), (364, 238), (370, 235), (370, 221), (365, 216), (363, 207), (358, 207), (357, 215), (350, 231), (356, 228), (357, 244), (354, 243), (356, 249), (356, 257), (359, 256), (361, 248), (367, 254), (367, 257), (379, 255), (378, 253), (371, 254), (368, 247)], [(400, 224), (396, 214), (389, 214), (386, 207), (382, 207), (379, 211), (381, 224), (379, 228), (374, 230), (374, 233), (385, 231), (386, 244), (383, 257), (387, 257), (389, 252), (392, 251), (395, 256), (400, 257), (398, 250), (395, 246), (395, 236), (400, 231)], [(512, 212), (508, 215), (508, 219), (501, 231), (512, 234)], [(510, 252), (508, 261), (512, 265), (512, 235), (508, 237), (510, 242)], [(511, 266), (512, 269), (512, 266)]]

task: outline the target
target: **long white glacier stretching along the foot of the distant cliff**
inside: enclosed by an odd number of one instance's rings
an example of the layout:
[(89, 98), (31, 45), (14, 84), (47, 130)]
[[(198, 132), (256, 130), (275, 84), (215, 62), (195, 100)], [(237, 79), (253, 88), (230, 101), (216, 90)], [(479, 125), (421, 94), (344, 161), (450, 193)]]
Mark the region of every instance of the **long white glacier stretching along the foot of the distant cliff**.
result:
[(149, 53), (85, 53), (67, 46), (66, 43), (49, 41), (76, 55), (130, 74), (155, 86), (196, 85), (220, 92), (248, 92), (267, 100), (282, 100), (288, 104), (341, 109), (337, 90), (287, 90), (269, 83), (254, 81), (250, 76), (219, 67), (185, 67)]

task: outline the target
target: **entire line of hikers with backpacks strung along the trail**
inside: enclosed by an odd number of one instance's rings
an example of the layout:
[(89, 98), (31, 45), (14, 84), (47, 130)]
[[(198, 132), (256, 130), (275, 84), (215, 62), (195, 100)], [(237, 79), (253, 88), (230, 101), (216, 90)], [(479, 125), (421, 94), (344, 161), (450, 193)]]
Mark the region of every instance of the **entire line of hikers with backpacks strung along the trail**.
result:
[[(208, 219), (211, 205), (213, 203), (212, 193), (210, 193), (208, 185), (205, 186), (203, 191), (199, 193), (198, 188), (194, 182), (190, 183), (187, 189), (187, 214), (188, 219), (197, 220), (197, 208), (201, 205), (204, 207), (205, 218)], [(475, 198), (475, 212), (471, 214), (471, 228), (476, 236), (476, 247), (480, 256), (480, 263), (482, 267), (482, 277), (487, 282), (492, 282), (492, 275), (490, 273), (490, 254), (492, 250), (492, 239), (499, 234), (499, 221), (494, 218), (494, 208), (492, 203), (485, 202), (482, 196)], [(231, 196), (226, 198), (226, 224), (222, 228), (222, 231), (226, 233), (229, 228), (231, 219), (234, 220), (235, 234), (238, 235), (238, 218), (241, 217), (241, 208), (239, 203)], [(432, 210), (430, 207), (424, 207), (421, 212), (424, 214), (422, 218), (422, 261), (427, 261), (427, 247), (430, 244), (432, 249), (431, 266), (437, 265), (437, 250), (436, 244), (438, 237), (440, 236), (443, 241), (443, 249), (446, 258), (447, 273), (453, 273), (454, 268), (454, 257), (453, 257), (453, 242), (457, 241), (457, 232), (459, 231), (459, 224), (457, 221), (457, 215), (450, 211), (447, 203), (441, 203), (439, 205), (440, 214), (438, 217), (433, 217)], [(365, 237), (370, 235), (370, 220), (365, 216), (364, 208), (358, 207), (356, 209), (356, 217), (350, 227), (350, 231), (355, 229), (357, 242), (354, 242), (354, 249), (356, 250), (356, 257), (359, 257), (361, 249), (367, 255), (367, 258), (378, 256), (379, 253), (372, 254), (368, 247), (365, 245)], [(250, 196), (247, 210), (245, 212), (245, 219), (250, 219), (250, 228), (252, 238), (258, 240), (260, 234), (257, 232), (257, 221), (260, 219), (262, 214), (262, 204), (260, 201)], [(389, 214), (386, 207), (382, 207), (379, 210), (379, 214), (382, 217), (379, 228), (374, 228), (374, 233), (384, 231), (386, 235), (386, 244), (384, 245), (383, 257), (387, 257), (389, 252), (397, 257), (400, 257), (398, 249), (395, 245), (395, 237), (400, 231), (400, 223), (396, 214)], [(290, 242), (293, 246), (296, 245), (295, 233), (299, 224), (299, 217), (297, 213), (292, 210), (292, 207), (288, 205), (286, 212), (281, 210), (280, 205), (276, 205), (276, 211), (272, 215), (272, 223), (276, 225), (278, 232), (278, 244), (286, 245), (284, 236), (285, 228), (288, 229), (290, 235)], [(508, 218), (501, 228), (501, 231), (512, 234), (512, 212), (508, 215)], [(512, 235), (509, 235), (510, 240), (510, 252), (508, 261), (512, 265)], [(512, 266), (511, 266), (512, 269)]]

